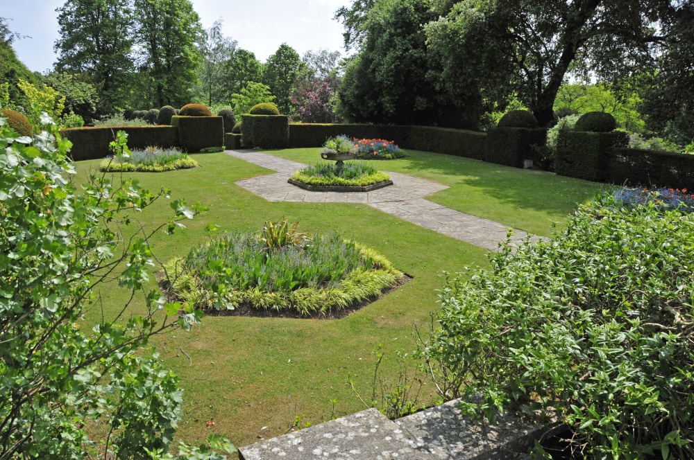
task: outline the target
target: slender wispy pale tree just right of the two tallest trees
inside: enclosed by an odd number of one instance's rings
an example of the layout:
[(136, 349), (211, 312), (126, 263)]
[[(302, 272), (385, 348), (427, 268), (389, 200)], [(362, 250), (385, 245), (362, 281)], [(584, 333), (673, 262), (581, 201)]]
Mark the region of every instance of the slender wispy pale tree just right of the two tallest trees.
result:
[(200, 44), (200, 54), (203, 57), (200, 81), (210, 106), (222, 100), (226, 63), (238, 44), (231, 37), (224, 36), (222, 26), (221, 19), (214, 21), (212, 27), (205, 29), (204, 40)]

